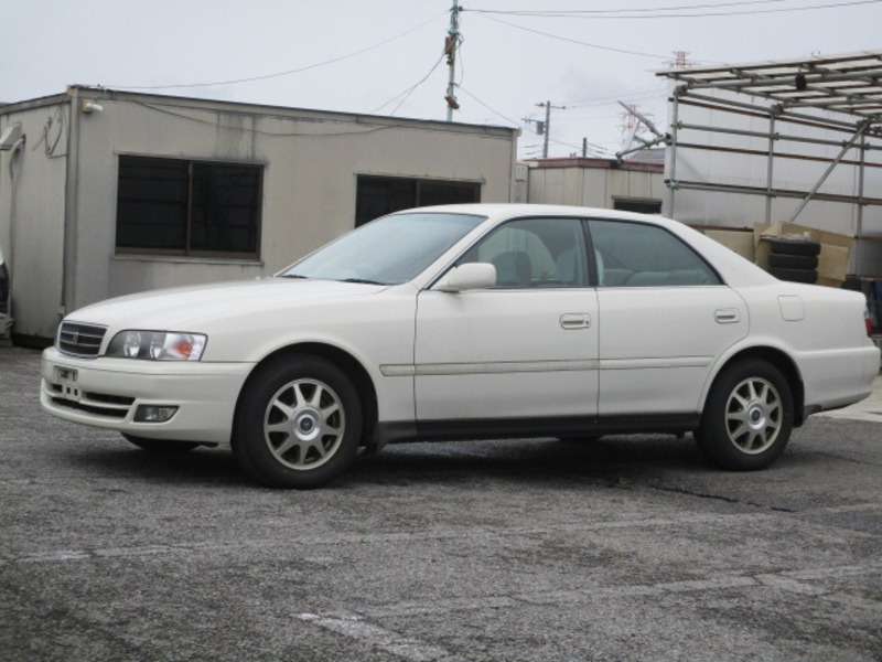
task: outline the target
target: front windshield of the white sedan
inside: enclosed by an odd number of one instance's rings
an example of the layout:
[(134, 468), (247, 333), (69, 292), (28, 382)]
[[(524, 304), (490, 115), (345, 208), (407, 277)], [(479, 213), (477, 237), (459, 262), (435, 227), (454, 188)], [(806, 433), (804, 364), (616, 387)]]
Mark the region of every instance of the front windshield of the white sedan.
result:
[(415, 213), (377, 218), (320, 248), (279, 276), (400, 285), (412, 280), (484, 221), (471, 214)]

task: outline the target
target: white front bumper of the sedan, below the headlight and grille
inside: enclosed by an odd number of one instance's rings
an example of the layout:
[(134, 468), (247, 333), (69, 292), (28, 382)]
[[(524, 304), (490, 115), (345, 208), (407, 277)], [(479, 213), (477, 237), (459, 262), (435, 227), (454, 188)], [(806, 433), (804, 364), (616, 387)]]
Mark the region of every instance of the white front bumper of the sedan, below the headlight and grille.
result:
[[(65, 420), (148, 439), (228, 445), (252, 363), (76, 359), (43, 352), (40, 404)], [(174, 406), (164, 423), (137, 423), (141, 405)]]

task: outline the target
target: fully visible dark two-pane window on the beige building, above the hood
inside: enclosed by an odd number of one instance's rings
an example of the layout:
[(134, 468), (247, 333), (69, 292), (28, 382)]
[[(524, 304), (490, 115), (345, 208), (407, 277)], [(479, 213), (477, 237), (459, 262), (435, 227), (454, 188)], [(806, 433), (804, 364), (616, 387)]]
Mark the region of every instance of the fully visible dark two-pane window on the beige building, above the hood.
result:
[(117, 250), (257, 257), (261, 170), (120, 157)]

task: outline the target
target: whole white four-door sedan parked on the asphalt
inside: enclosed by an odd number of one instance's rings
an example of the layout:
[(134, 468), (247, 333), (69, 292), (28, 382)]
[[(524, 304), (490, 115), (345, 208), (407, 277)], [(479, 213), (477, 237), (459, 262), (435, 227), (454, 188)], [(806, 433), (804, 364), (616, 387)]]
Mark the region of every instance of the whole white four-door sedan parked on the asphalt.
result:
[(232, 446), (282, 488), (431, 439), (691, 433), (712, 463), (761, 469), (870, 394), (864, 311), (657, 216), (426, 207), (271, 278), (69, 314), (41, 403), (150, 450)]

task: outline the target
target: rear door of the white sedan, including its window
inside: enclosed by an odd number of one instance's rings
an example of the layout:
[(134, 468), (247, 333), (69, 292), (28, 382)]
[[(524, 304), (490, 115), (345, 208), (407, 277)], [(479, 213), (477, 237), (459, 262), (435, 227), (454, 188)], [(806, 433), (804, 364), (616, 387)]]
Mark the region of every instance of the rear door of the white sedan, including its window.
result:
[(747, 308), (681, 238), (592, 220), (599, 415), (692, 414), (716, 359), (747, 333)]

